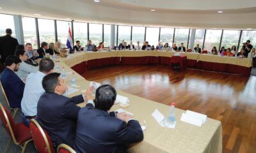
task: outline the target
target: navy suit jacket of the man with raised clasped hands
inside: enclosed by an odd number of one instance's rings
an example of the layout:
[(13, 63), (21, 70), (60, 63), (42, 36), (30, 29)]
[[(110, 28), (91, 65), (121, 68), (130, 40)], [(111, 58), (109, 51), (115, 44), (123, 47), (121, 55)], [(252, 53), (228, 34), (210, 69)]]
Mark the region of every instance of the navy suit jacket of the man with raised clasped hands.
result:
[(38, 100), (36, 120), (49, 133), (54, 147), (61, 143), (73, 146), (77, 115), (80, 110), (76, 104), (83, 101), (82, 95), (67, 98), (48, 92), (42, 94)]

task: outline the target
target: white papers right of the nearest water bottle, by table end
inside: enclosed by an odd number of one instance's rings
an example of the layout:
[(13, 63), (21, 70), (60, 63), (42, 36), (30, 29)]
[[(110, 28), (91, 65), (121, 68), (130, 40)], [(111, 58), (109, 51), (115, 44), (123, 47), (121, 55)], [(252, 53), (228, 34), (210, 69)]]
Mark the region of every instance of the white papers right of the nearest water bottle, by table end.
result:
[(202, 126), (207, 120), (207, 115), (187, 110), (185, 113), (182, 113), (180, 120), (195, 126)]

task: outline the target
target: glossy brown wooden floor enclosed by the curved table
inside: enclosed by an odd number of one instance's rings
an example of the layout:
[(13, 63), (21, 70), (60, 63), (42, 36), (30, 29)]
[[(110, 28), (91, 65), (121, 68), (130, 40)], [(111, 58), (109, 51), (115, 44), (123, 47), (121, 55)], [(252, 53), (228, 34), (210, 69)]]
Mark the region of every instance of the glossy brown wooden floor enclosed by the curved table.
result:
[(168, 66), (109, 66), (87, 71), (86, 80), (221, 120), (223, 152), (256, 150), (256, 77)]

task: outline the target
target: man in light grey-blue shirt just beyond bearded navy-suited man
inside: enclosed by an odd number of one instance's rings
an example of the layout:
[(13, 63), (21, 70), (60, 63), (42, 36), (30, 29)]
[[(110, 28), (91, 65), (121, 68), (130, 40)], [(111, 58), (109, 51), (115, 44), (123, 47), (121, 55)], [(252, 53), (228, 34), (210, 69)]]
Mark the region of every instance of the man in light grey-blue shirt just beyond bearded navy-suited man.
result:
[(25, 62), (25, 61), (27, 61), (28, 56), (24, 50), (16, 50), (15, 56), (19, 57), (19, 59), (21, 60), (19, 70), (16, 71), (15, 73), (18, 75), (18, 77), (21, 80), (24, 80), (24, 82), (25, 82), (29, 73), (38, 71), (38, 66), (31, 66)]

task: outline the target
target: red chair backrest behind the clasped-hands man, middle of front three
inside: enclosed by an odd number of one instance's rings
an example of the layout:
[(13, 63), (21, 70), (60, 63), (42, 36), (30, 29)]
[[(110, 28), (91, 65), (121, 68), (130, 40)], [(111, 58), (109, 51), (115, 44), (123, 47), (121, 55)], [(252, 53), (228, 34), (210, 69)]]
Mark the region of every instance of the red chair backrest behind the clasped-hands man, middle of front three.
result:
[(36, 147), (40, 153), (54, 153), (52, 141), (48, 133), (38, 124), (35, 119), (31, 119), (30, 131)]

